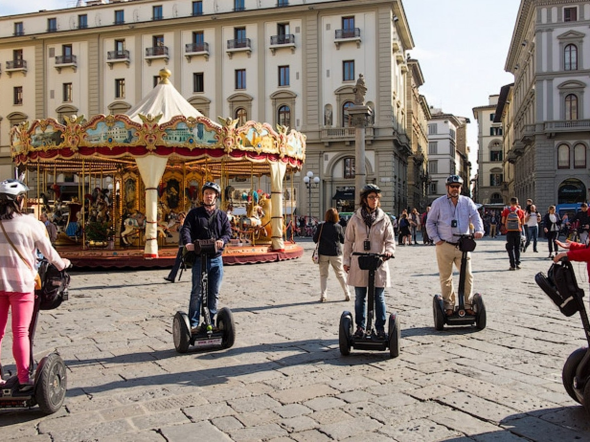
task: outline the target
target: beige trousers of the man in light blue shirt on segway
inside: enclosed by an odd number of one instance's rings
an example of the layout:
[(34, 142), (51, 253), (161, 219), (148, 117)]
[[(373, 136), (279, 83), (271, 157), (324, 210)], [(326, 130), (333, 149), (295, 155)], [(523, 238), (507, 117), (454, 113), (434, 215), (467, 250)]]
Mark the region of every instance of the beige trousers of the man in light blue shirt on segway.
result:
[[(455, 291), (453, 288), (453, 263), (457, 269), (461, 270), (461, 250), (447, 242), (437, 246), (437, 263), (438, 273), (441, 281), (441, 294), (444, 301), (444, 308), (453, 309), (455, 307)], [(467, 253), (467, 268), (465, 272), (465, 308), (471, 308), (471, 285), (473, 285), (473, 275), (471, 275), (471, 253)]]

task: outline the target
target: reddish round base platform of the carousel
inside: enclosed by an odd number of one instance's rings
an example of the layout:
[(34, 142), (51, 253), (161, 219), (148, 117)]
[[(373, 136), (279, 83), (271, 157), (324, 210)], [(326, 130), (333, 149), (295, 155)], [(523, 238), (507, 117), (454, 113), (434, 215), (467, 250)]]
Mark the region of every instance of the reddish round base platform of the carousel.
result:
[[(123, 269), (171, 268), (176, 259), (176, 247), (158, 248), (158, 258), (143, 257), (143, 248), (84, 249), (80, 246), (57, 246), (63, 258), (71, 261), (74, 268)], [(223, 254), (225, 265), (259, 262), (277, 262), (303, 256), (303, 247), (294, 242), (285, 242), (283, 251), (271, 250), (268, 245), (227, 245)]]

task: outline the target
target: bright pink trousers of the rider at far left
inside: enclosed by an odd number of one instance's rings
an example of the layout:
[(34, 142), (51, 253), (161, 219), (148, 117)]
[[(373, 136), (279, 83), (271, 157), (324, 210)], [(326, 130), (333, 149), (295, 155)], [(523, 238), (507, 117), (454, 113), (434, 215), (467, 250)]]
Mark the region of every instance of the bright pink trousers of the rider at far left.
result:
[(12, 355), (17, 363), (18, 381), (29, 380), (30, 341), (29, 325), (33, 314), (35, 295), (33, 293), (0, 291), (0, 348), (4, 329), (8, 322), (8, 309), (12, 308)]

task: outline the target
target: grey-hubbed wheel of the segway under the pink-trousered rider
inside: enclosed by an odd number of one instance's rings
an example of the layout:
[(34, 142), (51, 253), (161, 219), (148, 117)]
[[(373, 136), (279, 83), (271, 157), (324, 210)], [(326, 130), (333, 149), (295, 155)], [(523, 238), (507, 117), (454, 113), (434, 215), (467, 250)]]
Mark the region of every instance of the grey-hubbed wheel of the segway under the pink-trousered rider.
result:
[(35, 380), (35, 400), (44, 414), (53, 414), (61, 408), (67, 388), (64, 360), (50, 353), (39, 363)]

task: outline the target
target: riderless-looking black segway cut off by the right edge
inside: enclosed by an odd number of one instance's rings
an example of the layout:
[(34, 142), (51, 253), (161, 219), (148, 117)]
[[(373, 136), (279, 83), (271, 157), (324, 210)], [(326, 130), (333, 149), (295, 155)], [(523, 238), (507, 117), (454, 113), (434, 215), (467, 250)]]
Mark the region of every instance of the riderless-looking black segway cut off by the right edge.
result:
[[(568, 258), (549, 268), (548, 275), (543, 272), (535, 275), (535, 282), (559, 307), (565, 316), (580, 312), (586, 341), (590, 346), (590, 322), (584, 306), (584, 290), (578, 287), (575, 272)], [(563, 364), (562, 382), (565, 391), (577, 403), (584, 405), (590, 413), (590, 351), (589, 347), (578, 348), (569, 355)]]

